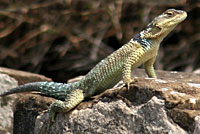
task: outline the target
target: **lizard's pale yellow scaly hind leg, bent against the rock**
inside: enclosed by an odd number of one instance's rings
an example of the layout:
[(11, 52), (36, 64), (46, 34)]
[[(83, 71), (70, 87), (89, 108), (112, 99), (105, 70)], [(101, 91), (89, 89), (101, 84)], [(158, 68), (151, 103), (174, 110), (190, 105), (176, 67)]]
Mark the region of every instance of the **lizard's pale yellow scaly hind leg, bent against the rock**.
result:
[(83, 90), (81, 89), (72, 90), (71, 92), (69, 92), (69, 94), (67, 94), (64, 101), (57, 100), (50, 105), (48, 110), (50, 120), (54, 122), (56, 113), (68, 112), (83, 100), (84, 100)]

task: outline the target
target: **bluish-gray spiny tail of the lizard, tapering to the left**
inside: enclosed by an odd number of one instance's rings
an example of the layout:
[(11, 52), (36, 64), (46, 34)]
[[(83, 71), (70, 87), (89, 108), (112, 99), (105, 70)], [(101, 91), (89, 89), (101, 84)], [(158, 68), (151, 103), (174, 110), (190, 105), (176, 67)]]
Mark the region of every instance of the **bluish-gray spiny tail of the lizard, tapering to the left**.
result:
[(22, 92), (31, 92), (36, 91), (45, 96), (53, 97), (55, 99), (63, 100), (66, 98), (66, 95), (73, 89), (79, 87), (78, 82), (63, 84), (56, 82), (33, 82), (25, 85), (12, 88), (9, 91), (0, 94), (0, 97)]

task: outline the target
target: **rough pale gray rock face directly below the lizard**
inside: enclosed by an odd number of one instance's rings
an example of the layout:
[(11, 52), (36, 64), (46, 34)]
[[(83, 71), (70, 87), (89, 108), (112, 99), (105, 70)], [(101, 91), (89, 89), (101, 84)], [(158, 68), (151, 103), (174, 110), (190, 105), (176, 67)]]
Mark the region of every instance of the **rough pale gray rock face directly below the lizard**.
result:
[(164, 100), (153, 97), (140, 106), (128, 107), (122, 100), (102, 99), (92, 108), (59, 114), (47, 127), (47, 115), (38, 117), (35, 134), (187, 134), (168, 118)]

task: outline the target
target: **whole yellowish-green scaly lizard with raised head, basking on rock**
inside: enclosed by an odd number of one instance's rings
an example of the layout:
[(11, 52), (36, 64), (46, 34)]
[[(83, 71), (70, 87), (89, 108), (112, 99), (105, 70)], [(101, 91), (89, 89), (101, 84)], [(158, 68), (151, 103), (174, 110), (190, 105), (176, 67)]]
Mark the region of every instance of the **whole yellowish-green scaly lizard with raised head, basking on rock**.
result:
[(13, 88), (0, 97), (20, 92), (38, 91), (57, 99), (49, 107), (49, 118), (54, 121), (57, 112), (68, 112), (85, 98), (112, 88), (120, 80), (129, 85), (134, 79), (131, 71), (144, 64), (148, 77), (157, 78), (153, 67), (162, 40), (187, 17), (182, 10), (168, 9), (155, 17), (147, 27), (128, 43), (101, 60), (83, 78), (74, 83), (32, 82)]

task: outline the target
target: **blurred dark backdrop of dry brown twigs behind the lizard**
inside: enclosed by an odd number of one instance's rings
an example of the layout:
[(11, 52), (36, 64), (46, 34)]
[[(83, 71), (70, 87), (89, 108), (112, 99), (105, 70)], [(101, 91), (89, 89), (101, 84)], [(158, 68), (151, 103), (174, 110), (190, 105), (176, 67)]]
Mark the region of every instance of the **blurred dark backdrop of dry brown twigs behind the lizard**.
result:
[(199, 0), (1, 0), (0, 66), (66, 82), (169, 8), (188, 17), (162, 42), (155, 68), (198, 72)]

